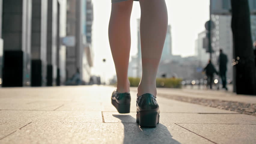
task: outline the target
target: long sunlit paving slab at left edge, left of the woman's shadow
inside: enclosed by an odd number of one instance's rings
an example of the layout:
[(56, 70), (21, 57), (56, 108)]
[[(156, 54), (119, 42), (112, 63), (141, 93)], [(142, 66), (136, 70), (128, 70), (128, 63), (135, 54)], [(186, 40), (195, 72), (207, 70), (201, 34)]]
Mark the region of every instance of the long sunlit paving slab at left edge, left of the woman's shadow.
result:
[(0, 139), (30, 122), (102, 123), (101, 112), (1, 110), (0, 117)]

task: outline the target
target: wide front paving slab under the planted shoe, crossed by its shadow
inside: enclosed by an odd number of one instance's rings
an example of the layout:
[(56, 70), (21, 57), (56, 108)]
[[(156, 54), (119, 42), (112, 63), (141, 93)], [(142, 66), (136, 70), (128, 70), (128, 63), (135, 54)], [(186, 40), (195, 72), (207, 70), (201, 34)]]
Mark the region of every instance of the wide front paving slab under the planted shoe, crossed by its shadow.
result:
[(133, 123), (32, 122), (0, 143), (211, 143), (178, 125), (140, 128)]

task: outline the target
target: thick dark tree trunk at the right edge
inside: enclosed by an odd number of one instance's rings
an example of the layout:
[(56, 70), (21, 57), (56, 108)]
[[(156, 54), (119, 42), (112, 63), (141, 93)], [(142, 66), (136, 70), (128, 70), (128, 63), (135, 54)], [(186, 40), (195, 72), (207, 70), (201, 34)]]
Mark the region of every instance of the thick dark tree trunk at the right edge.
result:
[[(231, 0), (236, 93), (256, 95), (254, 54), (248, 0)], [(239, 57), (237, 59), (237, 57)]]

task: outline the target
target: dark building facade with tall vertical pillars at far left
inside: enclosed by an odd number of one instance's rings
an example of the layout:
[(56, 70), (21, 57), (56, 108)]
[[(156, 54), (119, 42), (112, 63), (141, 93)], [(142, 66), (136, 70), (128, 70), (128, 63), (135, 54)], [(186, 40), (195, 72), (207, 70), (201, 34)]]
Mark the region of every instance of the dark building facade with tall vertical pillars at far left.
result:
[(3, 87), (61, 84), (65, 72), (60, 63), (65, 58), (60, 49), (66, 49), (60, 43), (60, 37), (66, 36), (62, 17), (66, 17), (66, 0), (0, 0)]

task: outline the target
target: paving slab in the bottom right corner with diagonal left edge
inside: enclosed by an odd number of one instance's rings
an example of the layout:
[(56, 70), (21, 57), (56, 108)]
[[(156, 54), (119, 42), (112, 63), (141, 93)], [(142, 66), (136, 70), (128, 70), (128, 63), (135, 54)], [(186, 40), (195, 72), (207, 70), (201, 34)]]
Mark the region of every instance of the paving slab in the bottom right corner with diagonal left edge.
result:
[(255, 144), (256, 125), (178, 124), (215, 143)]

